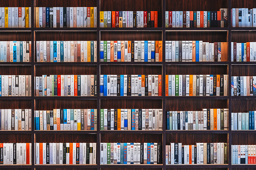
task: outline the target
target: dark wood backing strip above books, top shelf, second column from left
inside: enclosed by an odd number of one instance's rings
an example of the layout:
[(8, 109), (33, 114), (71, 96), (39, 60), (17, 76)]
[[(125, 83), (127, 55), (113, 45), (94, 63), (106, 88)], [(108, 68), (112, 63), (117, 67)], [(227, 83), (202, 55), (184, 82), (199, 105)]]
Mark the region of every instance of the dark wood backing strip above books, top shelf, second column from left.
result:
[(97, 0), (35, 0), (35, 7), (96, 7)]

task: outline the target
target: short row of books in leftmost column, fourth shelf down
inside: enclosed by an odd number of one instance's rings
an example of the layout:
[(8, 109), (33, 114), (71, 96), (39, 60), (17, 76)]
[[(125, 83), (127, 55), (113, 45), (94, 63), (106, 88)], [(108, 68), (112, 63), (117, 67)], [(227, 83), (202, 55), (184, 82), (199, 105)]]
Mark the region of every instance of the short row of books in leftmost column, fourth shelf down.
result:
[(31, 109), (0, 109), (0, 130), (31, 130)]

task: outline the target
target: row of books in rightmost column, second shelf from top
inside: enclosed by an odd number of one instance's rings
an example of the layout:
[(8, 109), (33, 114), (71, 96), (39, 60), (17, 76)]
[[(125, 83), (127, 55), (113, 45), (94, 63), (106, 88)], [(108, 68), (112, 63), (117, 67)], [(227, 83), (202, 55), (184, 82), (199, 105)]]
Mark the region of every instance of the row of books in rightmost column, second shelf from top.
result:
[(231, 42), (231, 61), (256, 61), (256, 42)]

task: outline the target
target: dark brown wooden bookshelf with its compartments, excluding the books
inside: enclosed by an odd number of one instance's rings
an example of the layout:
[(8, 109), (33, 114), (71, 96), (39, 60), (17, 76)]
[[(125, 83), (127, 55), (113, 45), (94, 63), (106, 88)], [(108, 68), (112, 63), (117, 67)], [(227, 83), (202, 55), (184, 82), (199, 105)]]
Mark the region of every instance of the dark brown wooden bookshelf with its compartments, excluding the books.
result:
[[(118, 2), (118, 3), (117, 3)], [(129, 3), (128, 3), (129, 2)], [(141, 6), (139, 4), (142, 4)], [(34, 130), (34, 116), (32, 116), (31, 131), (0, 131), (1, 142), (32, 142), (32, 157), (34, 157), (34, 142), (97, 142), (96, 165), (38, 165), (32, 158), (31, 165), (0, 165), (1, 169), (245, 169), (255, 165), (231, 163), (231, 144), (255, 144), (254, 130), (166, 130), (167, 110), (201, 110), (205, 108), (228, 108), (229, 120), (231, 112), (255, 110), (255, 96), (231, 96), (228, 86), (228, 96), (165, 96), (165, 75), (168, 74), (228, 74), (229, 85), (231, 75), (256, 75), (255, 62), (231, 62), (231, 42), (255, 42), (256, 28), (232, 28), (229, 17), (227, 28), (165, 28), (166, 11), (212, 10), (227, 8), (231, 16), (231, 8), (256, 7), (253, 0), (9, 0), (1, 1), (0, 7), (31, 7), (31, 28), (1, 28), (0, 41), (32, 41), (32, 58), (28, 63), (0, 63), (1, 74), (32, 75), (31, 97), (0, 97), (0, 108), (31, 108), (34, 110), (53, 108), (97, 108), (97, 131), (36, 131)], [(97, 28), (34, 28), (34, 7), (97, 7)], [(100, 11), (158, 11), (157, 28), (100, 28)], [(162, 62), (100, 62), (100, 41), (106, 40), (203, 40), (209, 42), (228, 42), (229, 56), (227, 62), (165, 62), (163, 49)], [(97, 41), (97, 62), (79, 63), (39, 63), (35, 62), (35, 41)], [(34, 76), (42, 74), (97, 74), (97, 87), (100, 87), (101, 74), (161, 74), (162, 96), (34, 96)], [(101, 108), (162, 108), (163, 130), (154, 131), (107, 131), (100, 130)], [(231, 127), (231, 121), (229, 121)], [(228, 164), (194, 164), (194, 165), (166, 165), (162, 164), (130, 164), (109, 165), (100, 164), (100, 142), (142, 142), (154, 141), (162, 143), (162, 159), (165, 158), (165, 145), (168, 142), (183, 142), (193, 144), (202, 142), (227, 142)], [(191, 144), (192, 144), (191, 143)]]

